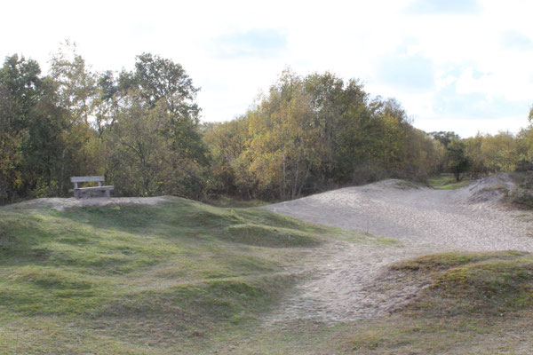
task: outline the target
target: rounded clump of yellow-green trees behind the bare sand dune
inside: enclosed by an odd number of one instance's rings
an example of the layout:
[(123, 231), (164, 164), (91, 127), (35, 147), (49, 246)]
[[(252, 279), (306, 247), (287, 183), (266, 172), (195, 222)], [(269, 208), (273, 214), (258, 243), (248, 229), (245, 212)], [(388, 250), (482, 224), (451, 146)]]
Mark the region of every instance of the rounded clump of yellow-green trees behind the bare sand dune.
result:
[(219, 193), (267, 199), (389, 176), (424, 179), (443, 155), (396, 101), (370, 99), (358, 81), (330, 73), (284, 72), (256, 106), (210, 126), (205, 140)]

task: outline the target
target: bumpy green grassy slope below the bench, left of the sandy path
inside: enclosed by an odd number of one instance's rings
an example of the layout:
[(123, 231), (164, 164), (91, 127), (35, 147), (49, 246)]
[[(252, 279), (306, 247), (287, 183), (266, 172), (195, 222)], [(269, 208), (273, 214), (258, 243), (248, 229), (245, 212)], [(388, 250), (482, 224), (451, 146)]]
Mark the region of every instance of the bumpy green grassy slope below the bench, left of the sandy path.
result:
[[(4, 353), (201, 353), (251, 327), (286, 272), (356, 233), (265, 209), (171, 198), (161, 206), (0, 209)], [(353, 235), (354, 234), (354, 235)]]

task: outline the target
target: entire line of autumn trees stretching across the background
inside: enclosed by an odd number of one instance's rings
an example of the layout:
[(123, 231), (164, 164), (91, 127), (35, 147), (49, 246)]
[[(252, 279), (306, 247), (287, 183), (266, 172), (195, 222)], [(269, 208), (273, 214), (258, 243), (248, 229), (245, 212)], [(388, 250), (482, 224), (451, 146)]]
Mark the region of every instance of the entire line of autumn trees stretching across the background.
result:
[(246, 113), (201, 123), (195, 87), (171, 59), (93, 72), (67, 43), (43, 75), (12, 55), (0, 69), (0, 203), (67, 196), (69, 177), (104, 175), (115, 195), (227, 194), (290, 199), (385, 177), (513, 170), (533, 154), (518, 135), (461, 139), (411, 125), (400, 103), (330, 73), (280, 75)]

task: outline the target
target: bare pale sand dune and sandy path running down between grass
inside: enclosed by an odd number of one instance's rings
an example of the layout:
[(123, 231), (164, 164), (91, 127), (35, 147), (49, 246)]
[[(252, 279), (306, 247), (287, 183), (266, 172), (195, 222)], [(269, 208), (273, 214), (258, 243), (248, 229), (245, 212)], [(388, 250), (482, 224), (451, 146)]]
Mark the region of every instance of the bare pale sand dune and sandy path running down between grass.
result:
[(402, 288), (387, 288), (388, 265), (408, 257), (449, 250), (533, 251), (532, 215), (505, 209), (499, 202), (501, 187), (512, 185), (505, 174), (453, 191), (405, 188), (400, 180), (386, 180), (265, 206), (305, 221), (401, 242), (394, 246), (336, 242), (316, 250), (307, 264), (314, 278), (298, 285), (268, 322), (337, 322), (390, 312), (424, 286), (406, 281)]

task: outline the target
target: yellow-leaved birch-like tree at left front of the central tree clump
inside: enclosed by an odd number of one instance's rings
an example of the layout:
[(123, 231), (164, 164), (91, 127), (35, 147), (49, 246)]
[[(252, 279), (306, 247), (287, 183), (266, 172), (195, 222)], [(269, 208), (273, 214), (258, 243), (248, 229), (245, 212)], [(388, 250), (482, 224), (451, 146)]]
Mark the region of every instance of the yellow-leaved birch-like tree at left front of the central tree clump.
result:
[(297, 75), (284, 71), (250, 115), (250, 170), (259, 188), (280, 199), (298, 196), (323, 156), (310, 96)]

